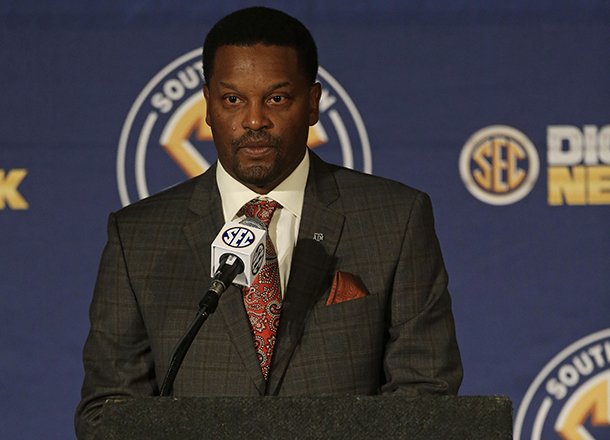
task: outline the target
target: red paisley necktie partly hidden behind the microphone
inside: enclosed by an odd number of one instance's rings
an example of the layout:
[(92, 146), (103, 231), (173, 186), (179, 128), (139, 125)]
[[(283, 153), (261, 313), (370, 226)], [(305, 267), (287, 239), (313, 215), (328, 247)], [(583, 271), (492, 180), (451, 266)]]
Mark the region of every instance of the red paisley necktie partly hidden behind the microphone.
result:
[[(281, 207), (274, 200), (253, 199), (244, 205), (240, 214), (246, 217), (257, 217), (268, 227), (273, 212)], [(250, 319), (250, 329), (254, 336), (254, 348), (263, 376), (267, 380), (282, 308), (277, 253), (269, 235), (267, 235), (265, 258), (265, 265), (254, 278), (252, 285), (243, 288), (243, 293), (244, 305)]]

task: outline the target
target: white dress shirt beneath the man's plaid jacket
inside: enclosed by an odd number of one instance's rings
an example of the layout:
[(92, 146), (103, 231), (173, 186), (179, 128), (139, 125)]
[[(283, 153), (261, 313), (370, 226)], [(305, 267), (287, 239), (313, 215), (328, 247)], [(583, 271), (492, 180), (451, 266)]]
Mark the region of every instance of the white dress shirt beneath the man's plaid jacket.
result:
[(292, 253), (299, 235), (308, 175), (309, 151), (306, 151), (301, 163), (286, 179), (268, 194), (261, 195), (237, 181), (227, 173), (220, 161), (217, 162), (216, 182), (220, 191), (225, 222), (240, 221), (243, 216), (240, 217), (237, 213), (247, 202), (255, 198), (272, 199), (282, 205), (281, 209), (275, 211), (269, 224), (269, 235), (278, 256), (282, 297), (284, 297), (288, 285)]

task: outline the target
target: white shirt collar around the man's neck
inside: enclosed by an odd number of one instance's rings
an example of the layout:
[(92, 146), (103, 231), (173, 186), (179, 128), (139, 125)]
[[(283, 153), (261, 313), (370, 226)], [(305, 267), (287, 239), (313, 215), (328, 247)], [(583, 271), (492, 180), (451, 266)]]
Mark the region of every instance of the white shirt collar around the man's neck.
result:
[[(301, 163), (294, 171), (286, 177), (278, 186), (271, 190), (264, 197), (270, 198), (282, 205), (297, 218), (301, 218), (303, 210), (303, 198), (305, 196), (305, 184), (309, 175), (309, 150)], [(250, 200), (261, 197), (250, 188), (231, 176), (223, 167), (220, 161), (216, 165), (216, 182), (222, 199), (222, 211), (225, 221), (234, 220), (238, 211)]]

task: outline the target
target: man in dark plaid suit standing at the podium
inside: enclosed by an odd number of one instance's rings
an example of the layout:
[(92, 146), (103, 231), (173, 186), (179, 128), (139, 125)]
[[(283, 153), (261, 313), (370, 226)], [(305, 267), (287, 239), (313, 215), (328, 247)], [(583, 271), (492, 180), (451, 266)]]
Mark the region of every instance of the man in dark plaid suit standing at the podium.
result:
[(203, 60), (218, 162), (111, 214), (79, 438), (95, 431), (106, 399), (158, 395), (210, 284), (211, 242), (261, 197), (279, 204), (269, 224), (281, 304), (274, 347), (255, 348), (248, 290), (229, 286), (174, 395), (457, 393), (461, 361), (430, 200), (308, 150), (320, 85), (307, 29), (279, 11), (237, 11), (210, 31)]

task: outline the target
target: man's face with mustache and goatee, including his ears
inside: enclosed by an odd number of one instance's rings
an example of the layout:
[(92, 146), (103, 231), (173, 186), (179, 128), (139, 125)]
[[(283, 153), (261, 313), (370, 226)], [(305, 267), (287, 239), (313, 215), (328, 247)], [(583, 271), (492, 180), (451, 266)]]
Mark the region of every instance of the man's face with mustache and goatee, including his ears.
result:
[(288, 46), (221, 46), (203, 93), (206, 122), (227, 172), (259, 194), (299, 165), (318, 121), (320, 85)]

